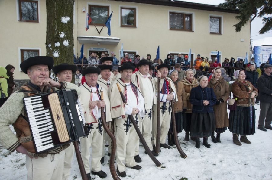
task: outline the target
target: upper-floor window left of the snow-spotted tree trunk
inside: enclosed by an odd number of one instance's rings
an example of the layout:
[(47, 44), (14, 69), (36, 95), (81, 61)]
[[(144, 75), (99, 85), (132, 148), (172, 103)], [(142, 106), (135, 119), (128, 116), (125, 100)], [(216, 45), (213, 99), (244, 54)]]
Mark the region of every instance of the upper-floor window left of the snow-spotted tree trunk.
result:
[(20, 21), (39, 22), (38, 1), (19, 0)]

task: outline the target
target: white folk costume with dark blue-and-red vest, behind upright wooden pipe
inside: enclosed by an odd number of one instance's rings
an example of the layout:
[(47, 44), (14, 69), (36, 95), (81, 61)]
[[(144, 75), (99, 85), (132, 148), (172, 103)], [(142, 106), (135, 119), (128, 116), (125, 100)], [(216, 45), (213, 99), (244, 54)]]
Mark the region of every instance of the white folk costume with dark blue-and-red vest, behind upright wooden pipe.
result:
[[(158, 79), (156, 80), (156, 84)], [(169, 131), (170, 122), (171, 122), (171, 103), (166, 99), (169, 94), (169, 80), (171, 83), (172, 93), (174, 95), (174, 101), (178, 101), (176, 96), (176, 88), (172, 80), (168, 77), (160, 79), (160, 144), (165, 144), (166, 136)], [(157, 91), (156, 85), (156, 91)], [(157, 93), (156, 93), (157, 96)], [(158, 105), (158, 104), (157, 104)], [(153, 139), (154, 145), (156, 144), (156, 134), (157, 134), (157, 105), (153, 107), (154, 110), (154, 126), (153, 126)]]

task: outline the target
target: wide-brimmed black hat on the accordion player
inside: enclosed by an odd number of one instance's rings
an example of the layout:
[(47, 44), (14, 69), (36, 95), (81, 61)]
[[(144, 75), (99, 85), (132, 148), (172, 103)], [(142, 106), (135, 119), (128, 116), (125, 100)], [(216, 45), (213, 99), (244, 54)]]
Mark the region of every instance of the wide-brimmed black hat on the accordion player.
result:
[(29, 57), (20, 64), (21, 70), (27, 74), (28, 68), (34, 65), (47, 65), (48, 69), (51, 70), (54, 65), (54, 59), (50, 56), (34, 56)]

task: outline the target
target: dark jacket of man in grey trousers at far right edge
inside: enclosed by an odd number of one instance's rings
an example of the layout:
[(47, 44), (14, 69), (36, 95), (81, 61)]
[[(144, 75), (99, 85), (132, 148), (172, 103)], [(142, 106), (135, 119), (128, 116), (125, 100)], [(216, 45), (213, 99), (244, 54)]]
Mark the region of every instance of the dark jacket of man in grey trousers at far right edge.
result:
[(259, 98), (261, 103), (272, 102), (272, 76), (266, 73), (258, 79)]

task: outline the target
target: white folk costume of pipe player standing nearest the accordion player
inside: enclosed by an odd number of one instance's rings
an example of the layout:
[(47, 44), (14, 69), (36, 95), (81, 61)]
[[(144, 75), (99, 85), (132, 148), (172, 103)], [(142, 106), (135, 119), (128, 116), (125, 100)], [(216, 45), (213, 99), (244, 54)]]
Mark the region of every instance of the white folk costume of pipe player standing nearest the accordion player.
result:
[(105, 101), (105, 115), (106, 121), (111, 121), (110, 114), (110, 101), (107, 95), (107, 90), (102, 88), (99, 84), (96, 87), (91, 87), (85, 82), (81, 89), (81, 95), (79, 96), (79, 101), (81, 103), (82, 110), (84, 112), (84, 118), (86, 124), (89, 124), (91, 132), (87, 138), (81, 139), (81, 157), (83, 160), (84, 168), (86, 173), (90, 172), (89, 158), (90, 158), (90, 148), (92, 147), (92, 161), (91, 167), (92, 171), (101, 171), (100, 160), (102, 158), (102, 144), (103, 144), (103, 126), (101, 122), (101, 109), (96, 106), (94, 109), (89, 108), (90, 101), (100, 101), (101, 91), (103, 93)]

